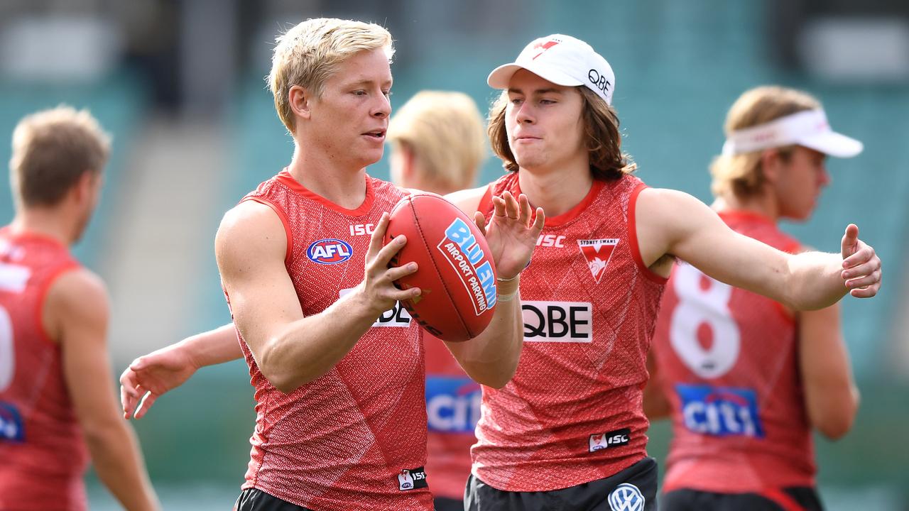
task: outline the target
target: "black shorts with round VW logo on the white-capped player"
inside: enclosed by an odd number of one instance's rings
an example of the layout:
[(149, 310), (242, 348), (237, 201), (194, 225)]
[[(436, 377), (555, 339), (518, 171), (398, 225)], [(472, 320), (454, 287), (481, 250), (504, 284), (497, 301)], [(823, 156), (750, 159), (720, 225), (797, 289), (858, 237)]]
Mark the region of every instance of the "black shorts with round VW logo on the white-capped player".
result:
[(656, 511), (656, 462), (645, 457), (604, 479), (548, 492), (508, 492), (471, 475), (466, 511)]

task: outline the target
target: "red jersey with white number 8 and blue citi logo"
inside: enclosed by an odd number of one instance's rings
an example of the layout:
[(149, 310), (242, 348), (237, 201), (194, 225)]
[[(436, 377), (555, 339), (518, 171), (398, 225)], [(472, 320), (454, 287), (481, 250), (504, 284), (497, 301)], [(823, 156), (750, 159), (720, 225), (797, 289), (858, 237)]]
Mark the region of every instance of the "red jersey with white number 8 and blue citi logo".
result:
[[(720, 216), (740, 234), (800, 250), (764, 216)], [(665, 490), (814, 486), (794, 318), (779, 303), (686, 264), (674, 267), (667, 287), (654, 336), (660, 386), (672, 406)]]

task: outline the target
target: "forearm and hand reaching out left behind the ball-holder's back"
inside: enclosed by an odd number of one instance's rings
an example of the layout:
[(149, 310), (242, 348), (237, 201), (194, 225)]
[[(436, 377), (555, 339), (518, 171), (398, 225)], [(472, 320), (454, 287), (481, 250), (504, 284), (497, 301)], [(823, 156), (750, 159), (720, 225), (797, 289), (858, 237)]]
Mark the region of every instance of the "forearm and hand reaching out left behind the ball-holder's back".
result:
[(142, 418), (155, 399), (184, 384), (199, 367), (215, 366), (243, 357), (234, 324), (136, 358), (120, 375), (120, 403), (125, 418)]

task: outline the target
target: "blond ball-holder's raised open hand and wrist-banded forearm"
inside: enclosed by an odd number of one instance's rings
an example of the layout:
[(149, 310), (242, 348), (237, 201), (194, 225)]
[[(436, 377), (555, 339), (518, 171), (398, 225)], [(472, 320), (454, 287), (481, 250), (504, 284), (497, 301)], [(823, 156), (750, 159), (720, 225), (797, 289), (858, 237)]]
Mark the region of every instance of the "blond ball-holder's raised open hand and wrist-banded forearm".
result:
[[(536, 240), (543, 231), (545, 215), (542, 208), (533, 214), (525, 195), (517, 199), (508, 192), (493, 197), (494, 215), (486, 224), (484, 215), (476, 211), (484, 188), (473, 195), (449, 195), (455, 204), (474, 218), (493, 253), (498, 274), (498, 301), (492, 322), (482, 334), (464, 343), (445, 343), (464, 372), (485, 386), (500, 388), (508, 383), (517, 370), (524, 346), (524, 318), (518, 292), (521, 271), (534, 253)], [(477, 195), (478, 194), (478, 195)]]

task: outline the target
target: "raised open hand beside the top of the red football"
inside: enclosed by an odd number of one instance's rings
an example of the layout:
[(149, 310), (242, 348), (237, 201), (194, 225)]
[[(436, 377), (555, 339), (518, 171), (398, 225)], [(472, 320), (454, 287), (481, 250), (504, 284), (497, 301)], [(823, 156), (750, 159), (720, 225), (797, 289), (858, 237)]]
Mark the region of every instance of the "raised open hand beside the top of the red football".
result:
[(520, 274), (530, 262), (546, 216), (542, 207), (537, 207), (533, 215), (530, 201), (524, 194), (515, 200), (514, 195), (506, 191), (500, 197), (493, 197), (493, 206), (488, 225), (479, 211), (474, 214), (474, 221), (486, 236), (498, 277), (507, 280)]

